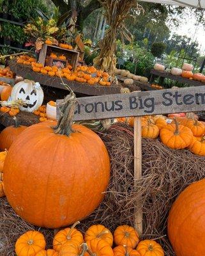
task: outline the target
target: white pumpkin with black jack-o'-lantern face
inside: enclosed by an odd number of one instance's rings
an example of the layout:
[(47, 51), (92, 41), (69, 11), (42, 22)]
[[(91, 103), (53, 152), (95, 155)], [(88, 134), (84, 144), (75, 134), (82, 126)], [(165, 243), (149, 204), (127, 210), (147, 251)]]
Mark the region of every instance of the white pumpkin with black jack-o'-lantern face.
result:
[(21, 111), (33, 112), (42, 106), (43, 103), (43, 90), (39, 83), (25, 79), (15, 86), (11, 91), (11, 99), (22, 99), (26, 103), (20, 106)]

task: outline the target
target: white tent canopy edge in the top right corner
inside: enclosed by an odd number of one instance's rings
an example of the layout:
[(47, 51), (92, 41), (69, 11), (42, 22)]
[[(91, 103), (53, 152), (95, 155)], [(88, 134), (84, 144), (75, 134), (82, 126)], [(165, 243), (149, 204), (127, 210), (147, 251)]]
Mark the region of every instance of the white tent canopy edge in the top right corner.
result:
[(140, 0), (149, 3), (172, 4), (205, 9), (205, 0)]

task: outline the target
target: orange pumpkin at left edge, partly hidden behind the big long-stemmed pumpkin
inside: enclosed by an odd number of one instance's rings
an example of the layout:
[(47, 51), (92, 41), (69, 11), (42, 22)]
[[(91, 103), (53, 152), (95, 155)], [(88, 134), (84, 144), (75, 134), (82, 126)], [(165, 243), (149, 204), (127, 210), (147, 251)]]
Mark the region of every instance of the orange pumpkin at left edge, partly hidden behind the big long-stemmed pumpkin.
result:
[(19, 125), (17, 118), (13, 118), (14, 125), (8, 126), (0, 134), (0, 148), (8, 150), (11, 147), (13, 141), (19, 136), (19, 134), (24, 131), (27, 127), (24, 125)]

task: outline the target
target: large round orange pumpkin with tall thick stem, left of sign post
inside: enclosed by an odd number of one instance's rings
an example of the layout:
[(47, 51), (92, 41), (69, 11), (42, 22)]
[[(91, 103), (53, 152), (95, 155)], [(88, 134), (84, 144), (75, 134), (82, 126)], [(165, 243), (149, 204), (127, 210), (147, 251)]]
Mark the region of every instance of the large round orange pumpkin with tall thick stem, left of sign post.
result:
[(65, 227), (86, 218), (109, 183), (107, 149), (95, 132), (72, 125), (75, 101), (70, 95), (65, 100), (70, 98), (72, 106), (63, 104), (56, 127), (51, 128), (52, 121), (28, 127), (4, 162), (8, 202), (19, 216), (40, 227)]

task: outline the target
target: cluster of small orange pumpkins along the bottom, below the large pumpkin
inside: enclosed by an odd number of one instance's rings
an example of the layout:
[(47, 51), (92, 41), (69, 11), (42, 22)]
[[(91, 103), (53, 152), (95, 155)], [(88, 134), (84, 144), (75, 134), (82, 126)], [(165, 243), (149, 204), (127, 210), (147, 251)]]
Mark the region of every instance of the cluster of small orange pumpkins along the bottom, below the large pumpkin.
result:
[[(28, 231), (15, 244), (18, 256), (163, 256), (164, 252), (156, 241), (139, 242), (137, 231), (128, 225), (114, 231), (103, 225), (93, 225), (84, 234), (75, 228), (60, 230), (53, 240), (53, 249), (45, 250), (45, 237), (38, 231)], [(112, 248), (112, 245), (116, 247)]]

